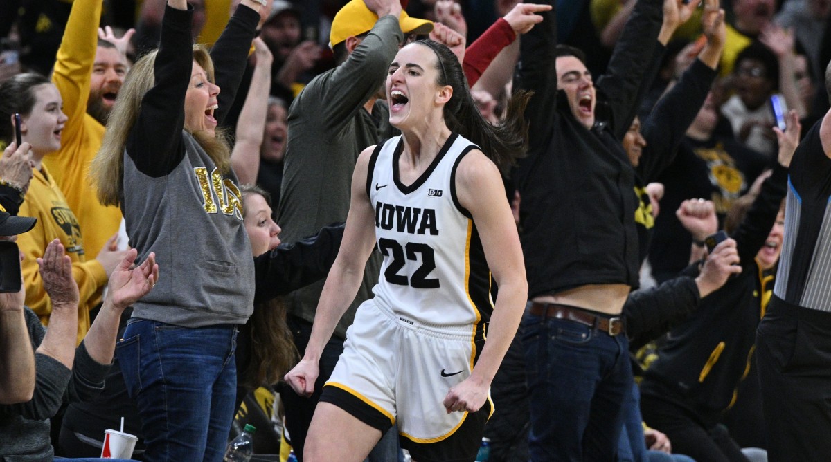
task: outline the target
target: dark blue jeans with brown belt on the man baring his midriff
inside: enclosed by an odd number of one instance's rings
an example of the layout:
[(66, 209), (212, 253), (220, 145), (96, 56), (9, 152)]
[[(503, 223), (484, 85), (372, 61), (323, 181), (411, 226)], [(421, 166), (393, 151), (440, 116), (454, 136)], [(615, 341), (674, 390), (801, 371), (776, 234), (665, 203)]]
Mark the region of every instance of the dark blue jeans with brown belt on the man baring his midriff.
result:
[(523, 329), (531, 460), (614, 460), (633, 383), (626, 335), (530, 314)]

